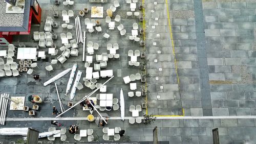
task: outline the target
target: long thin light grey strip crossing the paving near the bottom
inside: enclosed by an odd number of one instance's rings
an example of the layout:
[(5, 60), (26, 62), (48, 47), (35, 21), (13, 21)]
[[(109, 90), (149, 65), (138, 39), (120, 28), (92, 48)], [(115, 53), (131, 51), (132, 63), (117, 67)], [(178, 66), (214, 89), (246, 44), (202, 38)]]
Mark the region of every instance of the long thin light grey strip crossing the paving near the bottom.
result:
[[(124, 119), (129, 119), (132, 117), (124, 117)], [(140, 118), (143, 118), (140, 116)], [(256, 116), (158, 116), (156, 119), (252, 119)], [(109, 119), (121, 119), (121, 117), (110, 117)], [(87, 117), (39, 117), (39, 118), (7, 118), (6, 121), (78, 121), (87, 120)]]

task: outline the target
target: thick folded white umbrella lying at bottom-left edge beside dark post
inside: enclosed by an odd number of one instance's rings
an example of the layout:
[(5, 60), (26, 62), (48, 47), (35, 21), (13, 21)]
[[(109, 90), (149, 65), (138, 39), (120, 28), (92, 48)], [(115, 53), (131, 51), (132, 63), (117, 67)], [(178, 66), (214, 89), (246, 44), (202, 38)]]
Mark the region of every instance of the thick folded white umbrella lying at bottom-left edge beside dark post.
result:
[(2, 128), (0, 135), (28, 135), (29, 128)]

